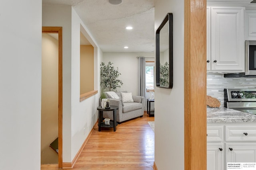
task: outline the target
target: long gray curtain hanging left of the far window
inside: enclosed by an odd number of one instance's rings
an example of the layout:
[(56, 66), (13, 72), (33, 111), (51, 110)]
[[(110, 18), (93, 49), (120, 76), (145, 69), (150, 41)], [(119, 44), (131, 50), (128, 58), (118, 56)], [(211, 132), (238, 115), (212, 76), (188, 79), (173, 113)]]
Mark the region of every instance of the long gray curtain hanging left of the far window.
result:
[(138, 57), (138, 60), (139, 96), (145, 97), (146, 100), (146, 61), (145, 57)]

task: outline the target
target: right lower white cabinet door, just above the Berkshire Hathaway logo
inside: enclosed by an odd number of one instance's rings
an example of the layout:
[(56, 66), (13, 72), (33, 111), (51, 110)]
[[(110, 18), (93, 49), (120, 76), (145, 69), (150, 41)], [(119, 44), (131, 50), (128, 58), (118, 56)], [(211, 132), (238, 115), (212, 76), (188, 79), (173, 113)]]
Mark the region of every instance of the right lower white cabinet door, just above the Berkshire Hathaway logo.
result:
[(256, 162), (256, 143), (226, 143), (226, 162)]

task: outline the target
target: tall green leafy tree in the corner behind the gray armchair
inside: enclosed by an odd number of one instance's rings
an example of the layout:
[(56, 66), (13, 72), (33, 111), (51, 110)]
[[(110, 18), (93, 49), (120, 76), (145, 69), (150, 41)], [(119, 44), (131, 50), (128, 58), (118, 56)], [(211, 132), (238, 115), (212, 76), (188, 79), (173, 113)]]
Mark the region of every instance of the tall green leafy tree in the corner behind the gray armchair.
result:
[(123, 85), (123, 82), (118, 79), (119, 75), (121, 75), (118, 67), (115, 69), (112, 64), (111, 62), (108, 62), (107, 65), (103, 62), (100, 64), (100, 85), (103, 89), (108, 89), (109, 91), (120, 88)]

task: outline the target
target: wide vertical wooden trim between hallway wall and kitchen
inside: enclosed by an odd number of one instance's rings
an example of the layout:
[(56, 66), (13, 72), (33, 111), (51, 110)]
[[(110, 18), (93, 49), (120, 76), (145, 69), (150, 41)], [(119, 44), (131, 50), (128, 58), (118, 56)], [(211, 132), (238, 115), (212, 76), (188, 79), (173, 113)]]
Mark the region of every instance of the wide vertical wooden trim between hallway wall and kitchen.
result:
[(184, 160), (206, 170), (206, 0), (184, 1)]

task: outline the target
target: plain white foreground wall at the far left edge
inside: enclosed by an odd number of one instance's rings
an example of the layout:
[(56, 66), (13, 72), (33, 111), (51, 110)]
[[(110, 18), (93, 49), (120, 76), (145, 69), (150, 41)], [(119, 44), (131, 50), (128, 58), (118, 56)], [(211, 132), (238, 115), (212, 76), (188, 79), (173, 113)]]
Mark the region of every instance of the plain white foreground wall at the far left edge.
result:
[(1, 1), (0, 25), (0, 169), (40, 170), (42, 1)]

